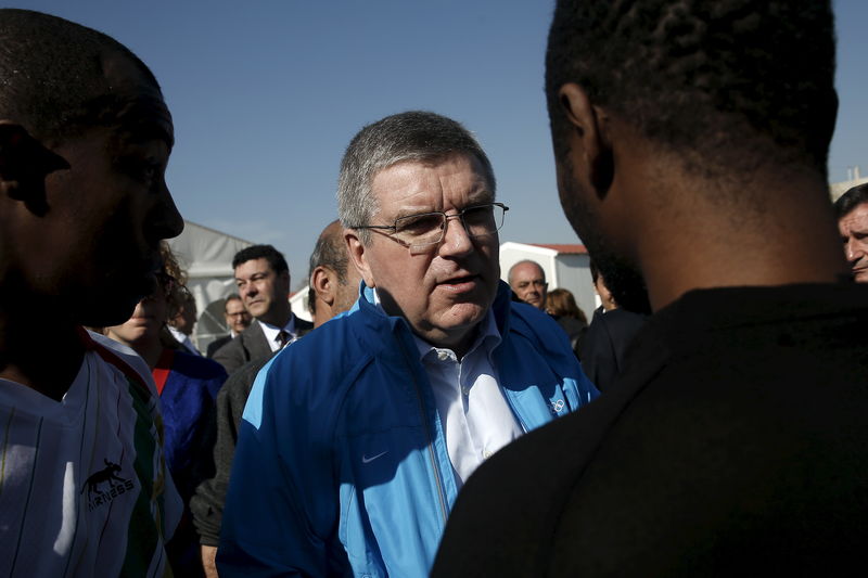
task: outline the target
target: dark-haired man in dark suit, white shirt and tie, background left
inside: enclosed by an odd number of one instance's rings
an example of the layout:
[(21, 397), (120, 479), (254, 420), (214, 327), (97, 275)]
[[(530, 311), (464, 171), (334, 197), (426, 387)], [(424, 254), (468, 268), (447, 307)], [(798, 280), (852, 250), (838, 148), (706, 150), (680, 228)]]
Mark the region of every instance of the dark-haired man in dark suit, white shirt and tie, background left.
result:
[(214, 354), (214, 360), (229, 374), (251, 360), (267, 358), (314, 329), (290, 309), (290, 268), (278, 249), (271, 245), (241, 249), (232, 259), (232, 268), (239, 295), (254, 321)]

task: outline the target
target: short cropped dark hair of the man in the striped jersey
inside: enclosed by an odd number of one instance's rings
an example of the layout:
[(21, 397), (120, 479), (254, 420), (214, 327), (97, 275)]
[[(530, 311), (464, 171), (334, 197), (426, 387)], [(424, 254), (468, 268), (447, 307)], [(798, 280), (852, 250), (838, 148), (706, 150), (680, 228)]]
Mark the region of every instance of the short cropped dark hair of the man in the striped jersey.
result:
[(128, 103), (113, 97), (102, 68), (106, 54), (154, 75), (113, 38), (29, 10), (0, 10), (0, 118), (37, 139), (63, 142), (94, 126), (112, 126)]

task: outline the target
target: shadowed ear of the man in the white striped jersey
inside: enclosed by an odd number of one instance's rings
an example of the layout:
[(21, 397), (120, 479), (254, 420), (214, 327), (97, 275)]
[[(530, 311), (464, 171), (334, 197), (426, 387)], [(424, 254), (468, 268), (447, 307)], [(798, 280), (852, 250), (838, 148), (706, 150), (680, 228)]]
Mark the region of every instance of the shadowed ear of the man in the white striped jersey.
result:
[(27, 130), (0, 120), (0, 194), (23, 201), (36, 215), (48, 213), (46, 177), (69, 164), (49, 151)]

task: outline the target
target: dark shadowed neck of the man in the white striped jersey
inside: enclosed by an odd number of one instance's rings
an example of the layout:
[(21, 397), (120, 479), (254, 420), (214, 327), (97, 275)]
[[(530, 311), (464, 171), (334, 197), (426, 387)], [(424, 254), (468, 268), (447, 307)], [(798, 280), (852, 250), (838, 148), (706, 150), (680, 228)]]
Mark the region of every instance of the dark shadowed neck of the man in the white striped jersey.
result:
[[(21, 303), (16, 306), (33, 311)], [(73, 385), (85, 357), (78, 331), (75, 323), (60, 314), (27, 318), (0, 310), (0, 377), (60, 401)], [(46, 356), (51, 356), (49, 363)]]

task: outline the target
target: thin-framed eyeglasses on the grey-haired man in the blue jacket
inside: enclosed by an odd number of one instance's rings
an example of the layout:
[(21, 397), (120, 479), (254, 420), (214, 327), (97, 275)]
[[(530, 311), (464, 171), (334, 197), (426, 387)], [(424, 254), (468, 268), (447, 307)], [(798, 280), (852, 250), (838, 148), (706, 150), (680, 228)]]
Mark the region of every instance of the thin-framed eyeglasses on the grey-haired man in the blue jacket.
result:
[(398, 217), (395, 224), (359, 224), (350, 229), (375, 229), (392, 231), (388, 235), (410, 251), (425, 251), (443, 241), (449, 219), (459, 218), (468, 236), (485, 236), (503, 227), (503, 215), (509, 207), (503, 203), (484, 203), (464, 207), (456, 215), (436, 210)]

